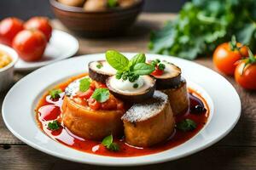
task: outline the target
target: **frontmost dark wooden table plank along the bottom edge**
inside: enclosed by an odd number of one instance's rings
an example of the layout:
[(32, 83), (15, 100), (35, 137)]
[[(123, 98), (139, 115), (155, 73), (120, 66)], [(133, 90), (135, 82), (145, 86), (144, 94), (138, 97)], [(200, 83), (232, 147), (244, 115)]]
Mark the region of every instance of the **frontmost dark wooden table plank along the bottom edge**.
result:
[[(150, 166), (142, 167), (121, 167), (123, 170), (255, 170), (256, 150), (255, 147), (232, 147), (215, 145), (207, 150), (203, 150), (193, 156), (187, 156), (177, 161), (170, 161)], [(11, 146), (9, 150), (0, 148), (0, 169), (13, 170), (67, 170), (67, 169), (98, 169), (115, 170), (120, 167), (96, 167), (64, 161), (54, 156), (48, 156), (43, 152), (38, 152), (29, 146)]]

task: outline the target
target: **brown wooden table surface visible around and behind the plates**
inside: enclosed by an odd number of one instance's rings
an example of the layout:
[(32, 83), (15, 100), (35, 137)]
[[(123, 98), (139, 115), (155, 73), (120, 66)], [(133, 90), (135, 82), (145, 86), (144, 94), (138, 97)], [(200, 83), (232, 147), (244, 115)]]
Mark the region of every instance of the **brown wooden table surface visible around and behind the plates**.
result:
[[(124, 37), (110, 39), (80, 38), (78, 54), (102, 53), (109, 48), (123, 52), (148, 52), (148, 36), (152, 29), (158, 29), (171, 20), (174, 14), (142, 14), (137, 24)], [(57, 21), (53, 21), (56, 29), (67, 31)], [(214, 70), (210, 58), (196, 59), (195, 62)], [(15, 81), (27, 73), (15, 73)], [(226, 77), (236, 88), (241, 98), (241, 118), (236, 127), (224, 139), (192, 156), (156, 165), (144, 167), (122, 167), (122, 169), (256, 169), (256, 93), (240, 88), (232, 77)], [(216, 82), (215, 86), (218, 86)], [(221, 93), (221, 92), (219, 92)], [(0, 108), (6, 93), (0, 94)], [(0, 111), (1, 113), (1, 111)], [(19, 113), (17, 113), (19, 116)], [(26, 122), (24, 122), (26, 123)], [(0, 169), (118, 169), (120, 167), (96, 167), (64, 161), (49, 156), (24, 144), (9, 132), (0, 114)]]

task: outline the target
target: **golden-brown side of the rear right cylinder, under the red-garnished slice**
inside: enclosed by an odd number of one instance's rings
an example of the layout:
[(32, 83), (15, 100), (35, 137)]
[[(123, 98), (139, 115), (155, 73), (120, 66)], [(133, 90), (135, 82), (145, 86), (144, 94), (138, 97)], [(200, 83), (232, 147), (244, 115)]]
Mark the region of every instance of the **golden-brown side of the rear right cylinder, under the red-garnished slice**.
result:
[(187, 111), (189, 108), (189, 96), (186, 81), (183, 80), (177, 88), (169, 88), (161, 91), (168, 95), (174, 115)]

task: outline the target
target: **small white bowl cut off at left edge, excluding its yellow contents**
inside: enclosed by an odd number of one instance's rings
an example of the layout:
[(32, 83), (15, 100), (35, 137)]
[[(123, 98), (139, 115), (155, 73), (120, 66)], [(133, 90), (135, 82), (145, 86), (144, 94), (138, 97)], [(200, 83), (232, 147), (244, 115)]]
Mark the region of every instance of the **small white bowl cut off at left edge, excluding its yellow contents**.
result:
[(0, 92), (2, 92), (9, 88), (14, 81), (14, 66), (19, 57), (13, 48), (9, 48), (3, 44), (0, 44), (0, 50), (9, 54), (12, 59), (12, 62), (9, 65), (0, 69)]

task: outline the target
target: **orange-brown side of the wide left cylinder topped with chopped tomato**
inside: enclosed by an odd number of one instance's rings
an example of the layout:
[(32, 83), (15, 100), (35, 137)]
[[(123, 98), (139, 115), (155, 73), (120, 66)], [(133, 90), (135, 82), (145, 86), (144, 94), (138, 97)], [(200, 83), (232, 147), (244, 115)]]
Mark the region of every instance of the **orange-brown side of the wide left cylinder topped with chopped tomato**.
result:
[(84, 139), (102, 140), (109, 134), (121, 135), (124, 127), (120, 118), (123, 114), (123, 111), (93, 111), (76, 104), (67, 96), (62, 105), (64, 125)]

